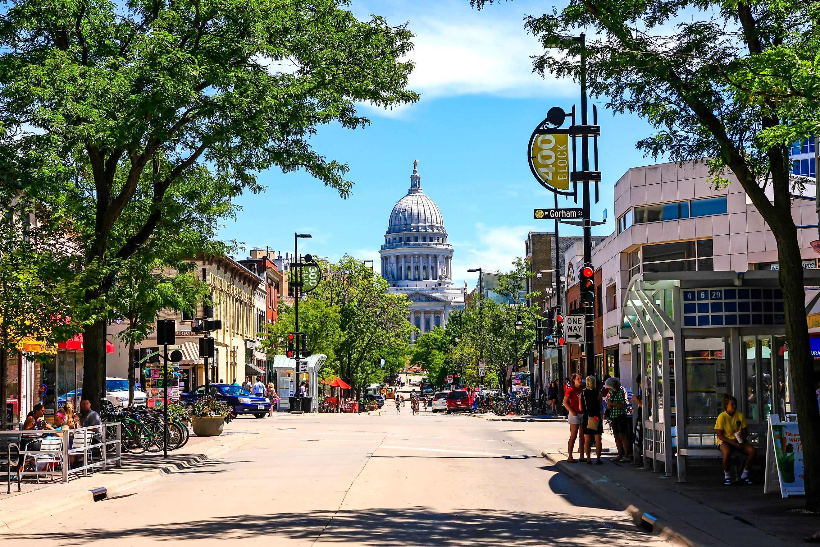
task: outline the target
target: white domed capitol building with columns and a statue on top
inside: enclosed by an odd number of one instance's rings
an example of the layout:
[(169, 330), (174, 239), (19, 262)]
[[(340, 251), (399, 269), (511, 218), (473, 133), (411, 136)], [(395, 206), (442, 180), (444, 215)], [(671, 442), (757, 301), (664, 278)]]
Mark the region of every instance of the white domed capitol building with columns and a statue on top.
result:
[(439, 207), (421, 190), (418, 162), (408, 194), (390, 213), (379, 253), (389, 291), (407, 294), (410, 322), (422, 333), (446, 326), (449, 314), (464, 308), (464, 291), (453, 286), (453, 247)]

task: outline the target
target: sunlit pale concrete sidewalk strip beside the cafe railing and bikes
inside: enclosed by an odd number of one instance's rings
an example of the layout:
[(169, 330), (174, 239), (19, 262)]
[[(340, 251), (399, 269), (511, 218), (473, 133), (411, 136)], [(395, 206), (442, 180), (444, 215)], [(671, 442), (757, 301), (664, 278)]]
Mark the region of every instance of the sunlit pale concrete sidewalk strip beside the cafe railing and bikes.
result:
[(11, 495), (5, 492), (2, 482), (0, 494), (0, 529), (13, 530), (32, 522), (42, 522), (43, 517), (84, 504), (93, 504), (91, 490), (105, 488), (107, 496), (134, 488), (145, 481), (173, 472), (209, 465), (210, 460), (257, 440), (257, 432), (225, 432), (218, 437), (197, 437), (192, 435), (189, 444), (162, 458), (162, 454), (144, 453), (139, 455), (123, 453), (120, 467), (98, 470), (93, 475), (80, 476), (67, 483), (50, 482), (37, 485), (34, 489), (16, 491), (16, 482), (11, 486)]

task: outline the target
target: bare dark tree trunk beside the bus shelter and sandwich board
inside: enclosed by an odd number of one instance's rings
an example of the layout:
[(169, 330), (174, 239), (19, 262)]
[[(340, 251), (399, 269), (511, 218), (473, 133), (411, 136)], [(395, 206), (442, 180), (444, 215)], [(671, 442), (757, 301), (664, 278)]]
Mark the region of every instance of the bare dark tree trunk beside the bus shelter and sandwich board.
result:
[[(791, 217), (784, 224), (788, 223)], [(786, 312), (791, 381), (795, 389), (800, 440), (803, 444), (806, 508), (820, 511), (820, 412), (814, 392), (814, 359), (806, 323), (803, 263), (794, 226), (773, 226), (777, 241), (778, 276)]]

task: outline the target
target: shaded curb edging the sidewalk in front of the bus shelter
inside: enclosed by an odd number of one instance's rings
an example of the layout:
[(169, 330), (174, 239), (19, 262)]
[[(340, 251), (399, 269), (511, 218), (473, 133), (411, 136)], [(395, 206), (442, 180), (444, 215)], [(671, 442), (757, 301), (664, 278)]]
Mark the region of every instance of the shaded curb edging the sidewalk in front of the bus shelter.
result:
[[(718, 545), (725, 547), (728, 545), (722, 540), (718, 540), (714, 536), (710, 536), (708, 533), (692, 526), (688, 522), (675, 517), (662, 508), (658, 508), (658, 506), (649, 503), (639, 495), (633, 494), (631, 490), (626, 489), (626, 487), (616, 482), (610, 481), (608, 477), (595, 472), (593, 469), (577, 467), (571, 463), (567, 463), (565, 461), (566, 455), (564, 454), (555, 452), (541, 452), (540, 454), (542, 458), (545, 458), (549, 463), (557, 467), (560, 472), (581, 482), (581, 484), (585, 485), (595, 494), (621, 509), (631, 517), (635, 525), (647, 529), (644, 524), (645, 522), (650, 523), (650, 533), (654, 536), (658, 536), (663, 540), (676, 541), (688, 547), (717, 547)], [(787, 545), (785, 541), (779, 540), (775, 536), (768, 534), (766, 536), (768, 536), (768, 538), (765, 544), (762, 545), (771, 545), (772, 547)]]

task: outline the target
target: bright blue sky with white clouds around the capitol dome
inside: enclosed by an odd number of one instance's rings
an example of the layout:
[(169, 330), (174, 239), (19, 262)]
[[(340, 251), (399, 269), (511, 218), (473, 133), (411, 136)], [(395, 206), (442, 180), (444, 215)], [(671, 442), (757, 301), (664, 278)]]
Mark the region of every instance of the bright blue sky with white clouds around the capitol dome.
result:
[[(522, 18), (551, 7), (543, 1), (503, 2), (478, 12), (468, 0), (354, 1), (360, 18), (375, 12), (391, 24), (409, 21), (416, 34), (410, 88), (421, 93), (421, 101), (386, 112), (364, 106), (372, 120), (365, 129), (319, 128), (312, 145), (350, 166), (348, 176), (356, 184), (349, 198), (304, 172), (266, 171), (259, 177), (266, 192), (239, 199), (244, 211), (222, 237), (284, 254), (293, 250), (294, 231), (307, 231), (313, 239), (303, 241), (300, 252), (334, 260), (349, 253), (378, 267), (389, 213), (406, 194), (417, 159), (421, 187), (440, 207), (453, 244), (457, 285), (465, 279), (475, 285), (469, 267), (508, 269), (523, 255), (529, 230), (553, 228), (552, 221), (532, 217), (534, 207), (553, 205), (553, 194), (529, 171), (527, 141), (549, 107), (568, 111), (578, 101), (574, 82), (531, 73), (530, 56), (541, 50), (525, 34)], [(604, 182), (593, 217), (599, 219), (605, 207), (608, 224), (593, 233), (607, 235), (613, 230), (615, 181), (629, 167), (652, 162), (635, 150), (651, 128), (635, 116), (603, 109), (599, 124)], [(576, 229), (562, 234), (575, 235)]]

